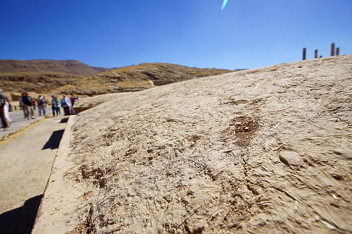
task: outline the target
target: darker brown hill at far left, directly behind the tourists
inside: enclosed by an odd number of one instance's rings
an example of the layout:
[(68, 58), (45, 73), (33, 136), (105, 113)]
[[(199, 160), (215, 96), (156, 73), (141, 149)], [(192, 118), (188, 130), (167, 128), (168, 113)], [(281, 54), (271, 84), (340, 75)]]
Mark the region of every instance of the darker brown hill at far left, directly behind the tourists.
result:
[(107, 71), (75, 60), (0, 60), (0, 88), (7, 92), (46, 93), (86, 76)]

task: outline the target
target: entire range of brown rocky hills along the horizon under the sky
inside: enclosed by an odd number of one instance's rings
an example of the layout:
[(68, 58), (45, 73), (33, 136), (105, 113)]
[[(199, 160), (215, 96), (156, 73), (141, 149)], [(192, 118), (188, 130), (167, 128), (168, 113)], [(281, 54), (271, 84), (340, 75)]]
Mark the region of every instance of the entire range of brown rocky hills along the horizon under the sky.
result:
[[(238, 69), (241, 70), (241, 69)], [(0, 60), (0, 88), (10, 93), (94, 96), (141, 91), (193, 78), (233, 72), (170, 63), (141, 63), (118, 68), (92, 67), (76, 60)]]

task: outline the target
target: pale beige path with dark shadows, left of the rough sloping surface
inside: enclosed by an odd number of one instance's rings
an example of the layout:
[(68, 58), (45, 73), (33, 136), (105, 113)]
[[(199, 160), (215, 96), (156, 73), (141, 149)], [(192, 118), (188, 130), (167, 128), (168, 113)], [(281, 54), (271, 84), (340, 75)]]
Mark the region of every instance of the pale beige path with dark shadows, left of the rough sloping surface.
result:
[(32, 230), (68, 119), (49, 114), (26, 120), (20, 111), (11, 113), (11, 127), (0, 132), (1, 234)]

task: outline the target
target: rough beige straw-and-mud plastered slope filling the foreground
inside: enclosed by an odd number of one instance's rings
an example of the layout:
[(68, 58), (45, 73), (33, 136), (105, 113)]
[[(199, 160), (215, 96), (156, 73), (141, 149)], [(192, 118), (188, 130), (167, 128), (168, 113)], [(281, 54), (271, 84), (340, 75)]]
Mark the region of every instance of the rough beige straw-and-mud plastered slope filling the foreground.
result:
[(351, 88), (348, 55), (111, 98), (71, 123), (33, 233), (352, 233)]

